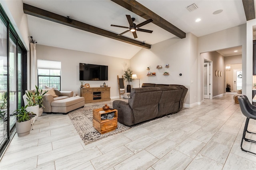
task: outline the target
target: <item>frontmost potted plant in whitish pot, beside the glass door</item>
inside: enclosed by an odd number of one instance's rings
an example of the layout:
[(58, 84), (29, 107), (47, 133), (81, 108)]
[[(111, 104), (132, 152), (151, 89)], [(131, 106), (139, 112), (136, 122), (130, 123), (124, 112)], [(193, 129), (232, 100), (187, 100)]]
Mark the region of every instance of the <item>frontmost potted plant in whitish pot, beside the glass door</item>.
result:
[(28, 105), (26, 105), (25, 107), (22, 106), (20, 109), (14, 111), (14, 115), (16, 115), (17, 117), (16, 132), (18, 136), (25, 136), (30, 133), (31, 118), (29, 116), (30, 112), (26, 110), (27, 107)]

